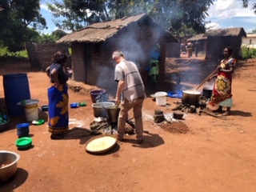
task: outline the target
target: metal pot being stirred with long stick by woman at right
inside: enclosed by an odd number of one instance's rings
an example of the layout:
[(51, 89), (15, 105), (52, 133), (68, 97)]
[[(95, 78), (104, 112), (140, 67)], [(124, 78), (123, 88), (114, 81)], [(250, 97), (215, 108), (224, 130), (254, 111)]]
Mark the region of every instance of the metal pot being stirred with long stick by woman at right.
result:
[(198, 106), (200, 92), (194, 90), (182, 90), (182, 104), (190, 106)]

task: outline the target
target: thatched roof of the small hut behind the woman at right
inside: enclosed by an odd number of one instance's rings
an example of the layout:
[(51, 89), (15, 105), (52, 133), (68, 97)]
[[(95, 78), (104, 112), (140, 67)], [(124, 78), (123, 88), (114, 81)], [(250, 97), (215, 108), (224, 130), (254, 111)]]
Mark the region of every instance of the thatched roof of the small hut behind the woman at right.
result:
[(246, 37), (246, 31), (242, 27), (227, 28), (219, 30), (208, 30), (205, 34), (207, 37), (211, 36), (241, 36)]

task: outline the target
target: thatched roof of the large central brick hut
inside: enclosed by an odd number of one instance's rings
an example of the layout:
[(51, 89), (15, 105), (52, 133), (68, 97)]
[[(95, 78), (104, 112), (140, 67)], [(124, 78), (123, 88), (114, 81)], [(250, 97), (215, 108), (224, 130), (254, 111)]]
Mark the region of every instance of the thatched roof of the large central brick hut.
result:
[(137, 16), (119, 18), (110, 22), (97, 22), (82, 30), (74, 31), (71, 34), (60, 38), (57, 43), (60, 42), (104, 42), (106, 39), (111, 38), (122, 30), (126, 26), (129, 26), (133, 22), (150, 22), (155, 27), (162, 30), (162, 33), (166, 34), (172, 41), (178, 42), (176, 38), (170, 32), (164, 30), (156, 22), (153, 22), (150, 16), (147, 14), (139, 14)]

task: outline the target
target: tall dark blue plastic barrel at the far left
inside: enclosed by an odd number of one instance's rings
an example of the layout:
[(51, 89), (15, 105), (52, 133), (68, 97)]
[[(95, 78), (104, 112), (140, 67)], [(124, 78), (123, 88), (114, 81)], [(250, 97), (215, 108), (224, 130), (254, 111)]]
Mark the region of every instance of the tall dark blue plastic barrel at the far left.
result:
[(26, 74), (3, 74), (2, 76), (8, 114), (12, 117), (24, 115), (24, 107), (18, 106), (17, 103), (30, 99), (30, 86)]

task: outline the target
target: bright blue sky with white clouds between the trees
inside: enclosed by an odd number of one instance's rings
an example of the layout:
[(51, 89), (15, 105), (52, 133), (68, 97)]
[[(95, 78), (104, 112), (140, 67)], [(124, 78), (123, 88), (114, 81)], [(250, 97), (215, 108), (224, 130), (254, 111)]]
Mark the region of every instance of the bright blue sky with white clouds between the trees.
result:
[[(51, 34), (58, 30), (52, 21), (53, 16), (50, 10), (47, 10), (46, 2), (50, 0), (41, 0), (41, 14), (46, 18), (48, 30), (43, 30), (44, 34)], [(61, 1), (62, 2), (62, 1)], [(210, 29), (225, 29), (230, 27), (243, 27), (246, 33), (256, 30), (256, 14), (251, 10), (252, 4), (256, 0), (250, 0), (248, 8), (242, 8), (242, 0), (215, 0), (214, 5), (207, 11), (209, 16), (206, 22), (210, 22), (206, 27)]]

